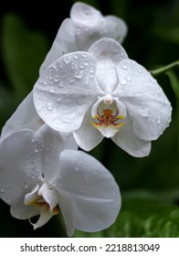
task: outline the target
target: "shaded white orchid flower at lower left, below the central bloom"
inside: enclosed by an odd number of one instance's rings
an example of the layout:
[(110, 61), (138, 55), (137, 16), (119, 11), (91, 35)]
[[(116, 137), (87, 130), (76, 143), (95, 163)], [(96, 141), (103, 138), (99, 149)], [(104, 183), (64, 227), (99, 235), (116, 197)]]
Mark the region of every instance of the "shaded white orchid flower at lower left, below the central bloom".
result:
[(74, 229), (107, 229), (121, 208), (119, 187), (94, 157), (68, 148), (70, 136), (49, 133), (46, 124), (38, 132), (11, 133), (0, 144), (0, 197), (13, 217), (29, 219), (34, 229), (59, 210), (68, 236)]

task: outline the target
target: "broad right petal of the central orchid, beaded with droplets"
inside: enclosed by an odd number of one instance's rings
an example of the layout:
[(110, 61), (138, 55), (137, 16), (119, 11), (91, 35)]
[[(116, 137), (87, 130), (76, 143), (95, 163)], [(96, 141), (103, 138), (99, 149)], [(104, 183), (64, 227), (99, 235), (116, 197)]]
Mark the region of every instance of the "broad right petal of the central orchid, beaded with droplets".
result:
[(171, 120), (171, 104), (151, 74), (131, 59), (117, 67), (119, 86), (113, 96), (131, 114), (134, 133), (144, 141), (157, 139)]

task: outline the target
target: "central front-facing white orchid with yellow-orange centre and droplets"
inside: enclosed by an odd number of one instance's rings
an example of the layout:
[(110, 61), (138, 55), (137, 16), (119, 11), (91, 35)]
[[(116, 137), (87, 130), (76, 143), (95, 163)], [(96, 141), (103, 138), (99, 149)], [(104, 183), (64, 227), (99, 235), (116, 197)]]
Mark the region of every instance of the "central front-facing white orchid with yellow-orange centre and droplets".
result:
[(54, 61), (33, 93), (42, 120), (74, 132), (87, 151), (107, 137), (130, 155), (149, 155), (151, 141), (171, 120), (171, 104), (157, 81), (111, 38)]

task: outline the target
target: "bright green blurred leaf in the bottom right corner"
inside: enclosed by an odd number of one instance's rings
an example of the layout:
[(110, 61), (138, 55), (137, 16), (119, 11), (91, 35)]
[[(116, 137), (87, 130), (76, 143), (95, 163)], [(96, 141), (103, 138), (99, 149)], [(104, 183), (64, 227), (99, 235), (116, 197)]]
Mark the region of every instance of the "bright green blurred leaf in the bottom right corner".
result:
[[(178, 192), (176, 195), (179, 196)], [(128, 192), (122, 195), (121, 213), (111, 229), (107, 230), (107, 235), (109, 237), (178, 237), (178, 217), (179, 208), (174, 205), (172, 195), (169, 197), (168, 193), (161, 196), (145, 191)]]

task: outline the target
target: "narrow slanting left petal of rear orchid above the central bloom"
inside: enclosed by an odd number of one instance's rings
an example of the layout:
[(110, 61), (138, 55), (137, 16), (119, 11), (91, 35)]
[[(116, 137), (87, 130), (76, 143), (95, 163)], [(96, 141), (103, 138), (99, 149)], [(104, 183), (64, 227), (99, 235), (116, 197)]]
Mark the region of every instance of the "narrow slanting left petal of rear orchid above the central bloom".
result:
[(72, 51), (77, 51), (75, 28), (72, 21), (66, 18), (59, 27), (58, 35), (40, 67), (40, 74), (56, 59)]

